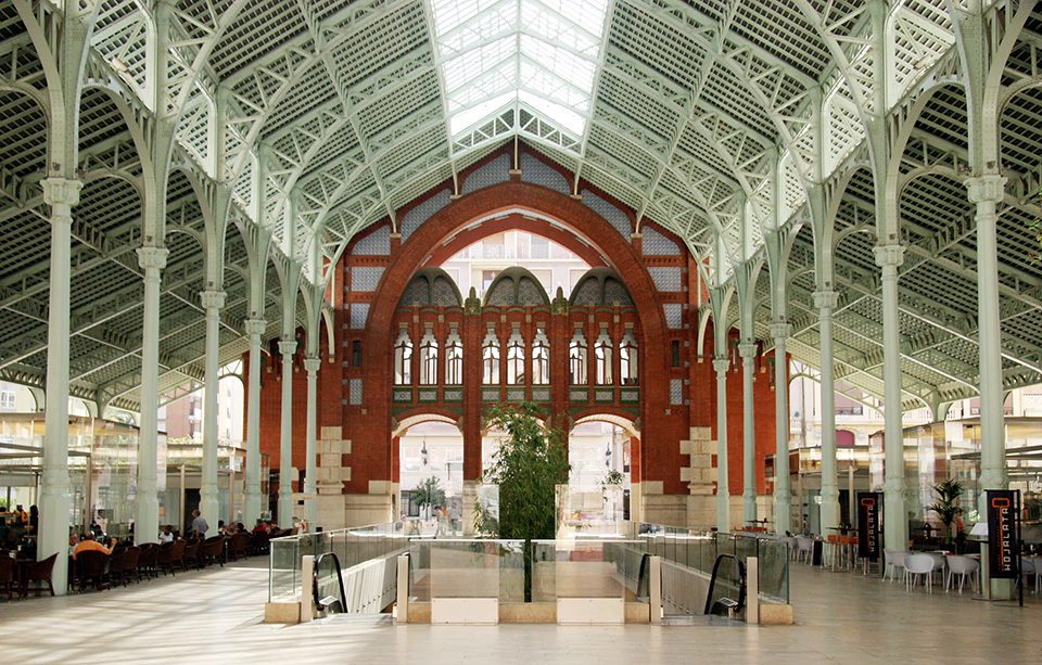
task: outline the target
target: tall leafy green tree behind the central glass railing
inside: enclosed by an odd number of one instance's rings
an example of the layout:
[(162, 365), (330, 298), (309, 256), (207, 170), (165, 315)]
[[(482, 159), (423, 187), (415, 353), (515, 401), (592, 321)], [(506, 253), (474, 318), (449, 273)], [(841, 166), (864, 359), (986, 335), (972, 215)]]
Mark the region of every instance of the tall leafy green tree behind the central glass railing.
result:
[(568, 482), (564, 432), (541, 425), (539, 409), (530, 402), (504, 405), (488, 412), (488, 425), (504, 434), (483, 481), (499, 486), (499, 522), (478, 528), (500, 538), (524, 540), (524, 601), (532, 602), (532, 540), (551, 539), (557, 530), (557, 486)]

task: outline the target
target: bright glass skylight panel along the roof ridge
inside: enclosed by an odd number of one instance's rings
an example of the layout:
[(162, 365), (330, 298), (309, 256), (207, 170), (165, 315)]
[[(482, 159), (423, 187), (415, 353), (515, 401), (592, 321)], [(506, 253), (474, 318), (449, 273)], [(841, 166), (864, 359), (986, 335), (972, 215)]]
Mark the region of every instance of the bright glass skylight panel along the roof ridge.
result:
[(511, 106), (582, 137), (611, 0), (430, 0), (455, 137)]

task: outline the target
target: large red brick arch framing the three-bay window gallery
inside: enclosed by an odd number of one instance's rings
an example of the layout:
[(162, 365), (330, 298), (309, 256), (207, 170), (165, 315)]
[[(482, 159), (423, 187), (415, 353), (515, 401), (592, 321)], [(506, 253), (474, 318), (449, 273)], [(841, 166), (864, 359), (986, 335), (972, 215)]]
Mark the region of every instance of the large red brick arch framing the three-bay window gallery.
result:
[[(546, 216), (571, 229), (596, 247), (608, 259), (611, 268), (619, 272), (633, 296), (640, 319), (641, 373), (648, 378), (644, 382), (646, 385), (641, 386), (641, 404), (645, 409), (648, 405), (660, 407), (668, 405), (669, 382), (665, 378), (669, 367), (668, 356), (663, 350), (669, 347), (665, 317), (651, 276), (634, 250), (631, 240), (623, 238), (614, 227), (582, 202), (566, 194), (526, 182), (505, 182), (470, 193), (435, 213), (393, 254), (384, 271), (373, 294), (369, 320), (366, 324), (364, 369), (368, 385), (365, 398), (366, 415), (363, 418), (369, 425), (365, 429), (364, 445), (367, 450), (364, 453), (364, 460), (357, 460), (365, 466), (365, 469), (358, 469), (363, 472), (359, 474), (361, 476), (358, 477), (359, 481), (363, 477), (387, 479), (391, 475), (390, 423), (393, 358), (390, 349), (394, 333), (393, 316), (398, 298), (412, 274), (428, 265), (428, 257), (439, 253), (443, 246), (442, 243), (454, 233), (459, 232), (475, 219), (513, 208)], [(497, 232), (497, 226), (482, 225), (475, 231), (479, 233), (469, 235), (470, 242)], [(588, 254), (588, 247), (584, 247), (575, 236), (561, 234), (554, 240), (561, 242), (563, 246), (580, 256)], [(466, 297), (466, 294), (463, 295)], [(656, 438), (657, 420), (662, 419), (647, 417), (643, 419), (645, 440)], [(384, 459), (386, 461), (382, 462), (381, 460)], [(352, 466), (355, 468), (355, 460)]]

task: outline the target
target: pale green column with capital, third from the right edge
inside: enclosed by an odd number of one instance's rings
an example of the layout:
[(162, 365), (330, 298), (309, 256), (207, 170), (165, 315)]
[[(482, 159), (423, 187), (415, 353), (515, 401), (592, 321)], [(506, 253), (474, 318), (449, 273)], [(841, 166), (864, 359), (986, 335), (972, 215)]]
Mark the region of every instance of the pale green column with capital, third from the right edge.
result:
[[(833, 366), (833, 311), (838, 303), (835, 291), (814, 292), (818, 310), (822, 347), (822, 535), (839, 526), (839, 477), (836, 469), (836, 369)], [(838, 532), (834, 532), (838, 533)]]

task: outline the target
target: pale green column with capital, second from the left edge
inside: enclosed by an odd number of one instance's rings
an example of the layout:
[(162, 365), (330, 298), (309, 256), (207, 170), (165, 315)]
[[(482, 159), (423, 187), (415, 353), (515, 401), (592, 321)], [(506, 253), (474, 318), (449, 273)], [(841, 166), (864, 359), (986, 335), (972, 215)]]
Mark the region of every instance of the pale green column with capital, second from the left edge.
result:
[[(156, 495), (157, 409), (160, 406), (160, 281), (169, 251), (138, 248), (144, 270), (144, 315), (141, 336), (141, 434), (138, 438), (138, 485), (134, 507), (134, 540), (157, 542), (160, 499)], [(165, 470), (164, 470), (165, 473)]]

